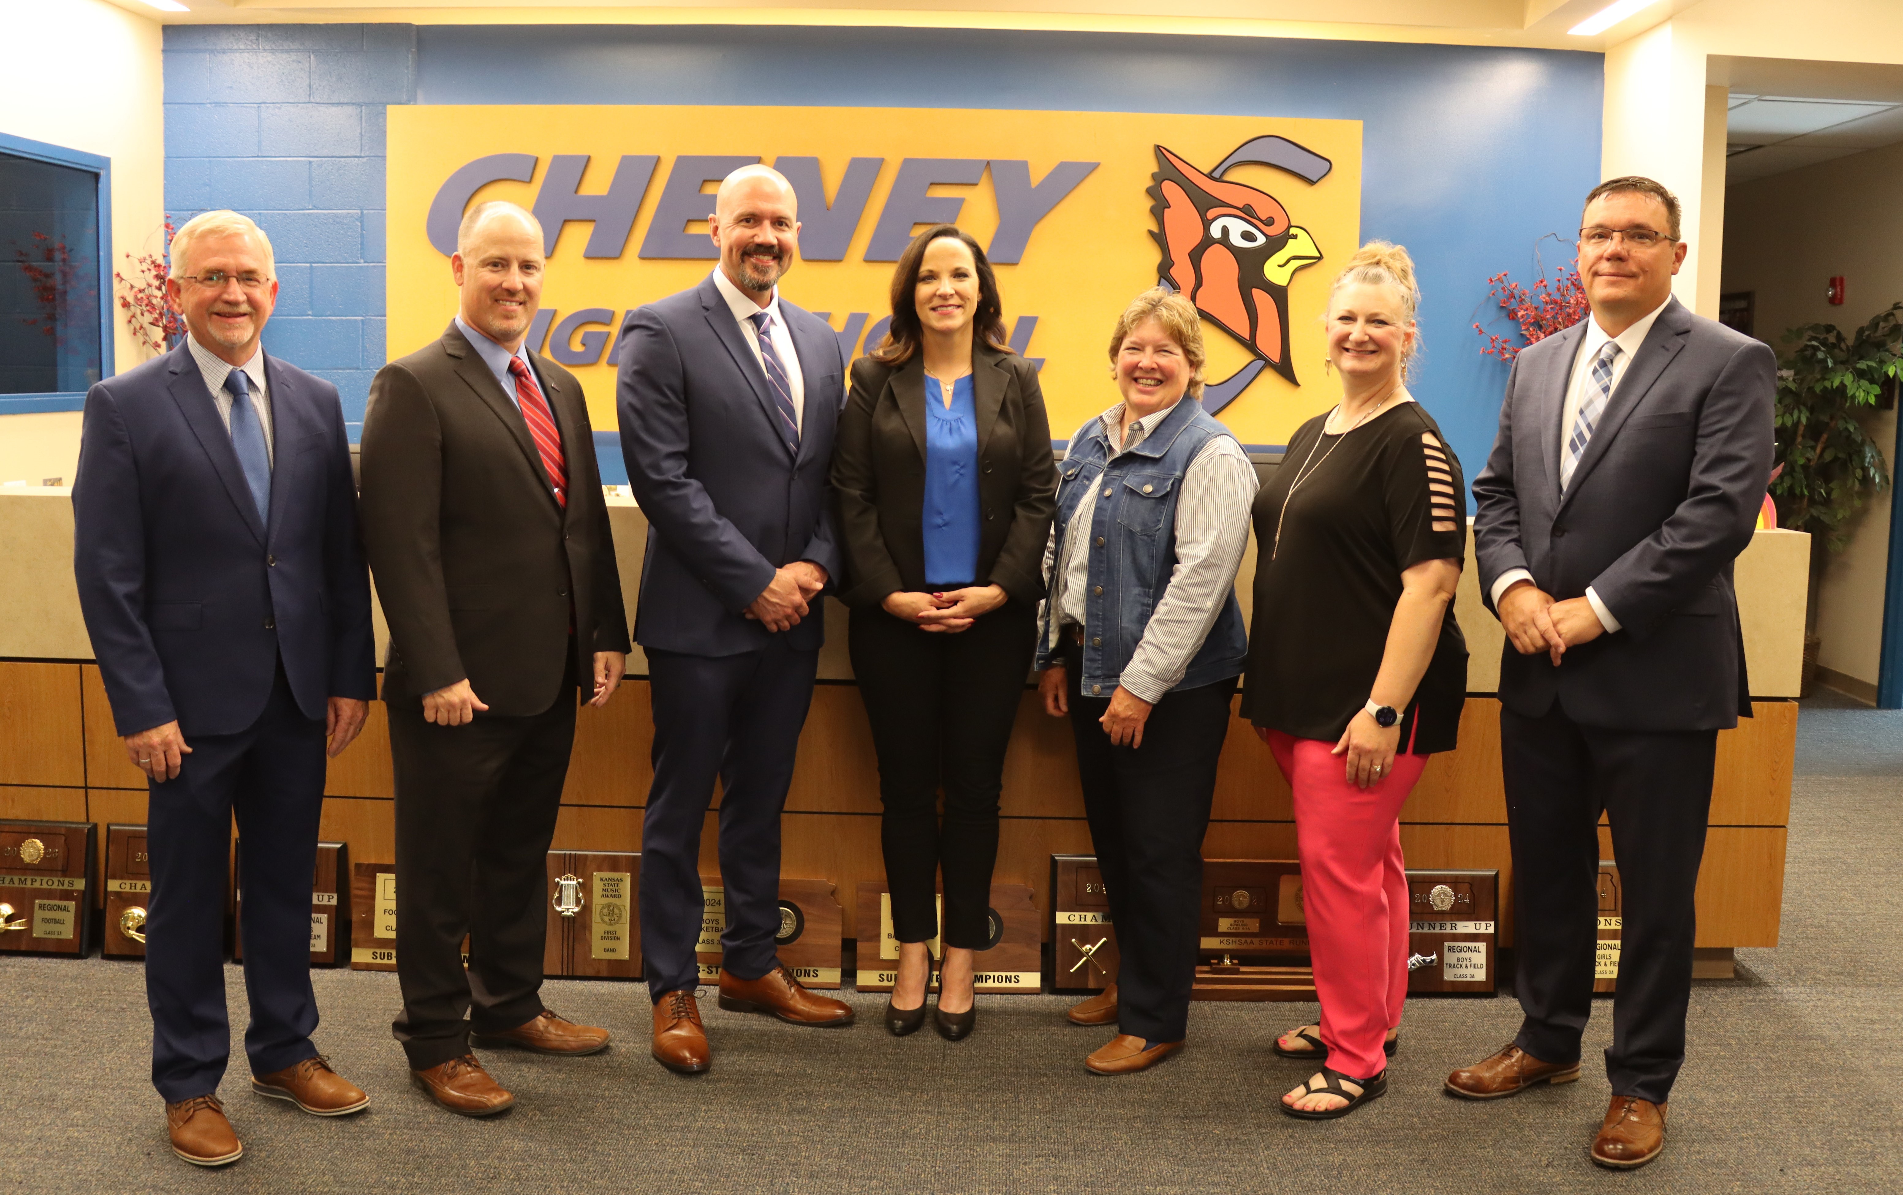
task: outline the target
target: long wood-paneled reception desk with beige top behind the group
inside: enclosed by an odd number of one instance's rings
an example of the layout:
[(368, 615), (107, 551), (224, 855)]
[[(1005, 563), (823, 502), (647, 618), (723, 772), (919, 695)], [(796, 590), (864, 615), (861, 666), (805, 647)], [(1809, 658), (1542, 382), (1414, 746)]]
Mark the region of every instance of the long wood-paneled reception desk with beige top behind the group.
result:
[[(647, 521), (630, 499), (611, 499), (615, 546), (628, 611), (634, 611)], [(1775, 946), (1783, 898), (1785, 826), (1796, 744), (1802, 668), (1804, 582), (1810, 537), (1760, 531), (1737, 561), (1737, 599), (1756, 717), (1718, 736), (1711, 833), (1697, 885), (1697, 946), (1707, 967), (1726, 972), (1737, 946)], [(112, 733), (99, 668), (80, 620), (72, 582), (72, 502), (67, 489), (0, 491), (0, 816), (97, 822), (145, 820), (145, 776), (126, 761)], [(1237, 592), (1248, 613), (1254, 544)], [(845, 651), (845, 611), (826, 603), (828, 643), (820, 685), (799, 742), (799, 767), (786, 801), (784, 875), (828, 879), (856, 936), (862, 879), (883, 879), (879, 862), (879, 774), (872, 735)], [(1467, 636), (1467, 710), (1460, 750), (1435, 755), (1401, 813), (1401, 843), (1412, 868), (1498, 868), (1511, 894), (1507, 809), (1500, 778), (1500, 624), (1479, 601), (1473, 567), (1462, 577), (1456, 613)], [(377, 620), (383, 658), (383, 618)], [(639, 851), (641, 807), (653, 776), (647, 662), (636, 649), (628, 683), (605, 710), (582, 710), (575, 759), (556, 824), (558, 851)], [(381, 704), (363, 735), (331, 761), (324, 837), (350, 845), (352, 860), (394, 858), (394, 790)], [(1049, 911), (1052, 852), (1089, 852), (1090, 832), (1077, 788), (1069, 729), (1047, 717), (1026, 687), (1005, 763), (1005, 826), (997, 879), (1024, 883)], [(1612, 858), (1600, 828), (1602, 854)], [(1288, 786), (1252, 729), (1235, 721), (1224, 746), (1214, 820), (1203, 847), (1210, 858), (1294, 858)], [(714, 814), (702, 839), (702, 870), (716, 872)], [(1501, 944), (1513, 940), (1513, 902), (1503, 900)]]

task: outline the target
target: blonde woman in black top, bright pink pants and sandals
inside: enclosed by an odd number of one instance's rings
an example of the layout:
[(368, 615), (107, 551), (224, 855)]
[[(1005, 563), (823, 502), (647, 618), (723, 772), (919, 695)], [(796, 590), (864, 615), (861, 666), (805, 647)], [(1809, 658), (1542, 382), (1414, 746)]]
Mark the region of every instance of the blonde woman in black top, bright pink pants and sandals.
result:
[(1324, 1066), (1283, 1096), (1304, 1119), (1387, 1090), (1408, 989), (1401, 803), (1454, 746), (1467, 645), (1448, 609), (1465, 556), (1460, 460), (1406, 392), (1420, 291), (1406, 249), (1364, 245), (1328, 297), (1342, 402), (1302, 424), (1256, 495), (1243, 715), (1294, 788), (1321, 1026), (1275, 1050)]

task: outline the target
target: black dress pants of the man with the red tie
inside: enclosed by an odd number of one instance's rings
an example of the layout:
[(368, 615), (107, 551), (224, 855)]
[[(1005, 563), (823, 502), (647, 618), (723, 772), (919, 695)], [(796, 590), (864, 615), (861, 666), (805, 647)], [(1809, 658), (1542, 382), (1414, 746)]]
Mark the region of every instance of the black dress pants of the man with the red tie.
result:
[(571, 664), (556, 704), (531, 717), (478, 714), (443, 727), (424, 721), (421, 706), (390, 706), (403, 989), (390, 1029), (411, 1069), (461, 1058), (472, 1031), (514, 1029), (542, 1010), (548, 843), (575, 746), (575, 700)]

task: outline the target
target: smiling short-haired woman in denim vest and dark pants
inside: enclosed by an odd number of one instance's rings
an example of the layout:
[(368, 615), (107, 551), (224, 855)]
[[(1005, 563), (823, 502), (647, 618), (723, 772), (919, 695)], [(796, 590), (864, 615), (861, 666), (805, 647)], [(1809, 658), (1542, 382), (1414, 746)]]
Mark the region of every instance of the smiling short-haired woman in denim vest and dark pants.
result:
[(1121, 1075), (1187, 1031), (1203, 833), (1248, 655), (1235, 571), (1256, 472), (1199, 402), (1203, 329), (1187, 299), (1138, 295), (1109, 363), (1123, 402), (1077, 428), (1058, 476), (1037, 691), (1071, 719), (1121, 953), (1117, 982), (1069, 1018), (1117, 1024), (1085, 1066)]

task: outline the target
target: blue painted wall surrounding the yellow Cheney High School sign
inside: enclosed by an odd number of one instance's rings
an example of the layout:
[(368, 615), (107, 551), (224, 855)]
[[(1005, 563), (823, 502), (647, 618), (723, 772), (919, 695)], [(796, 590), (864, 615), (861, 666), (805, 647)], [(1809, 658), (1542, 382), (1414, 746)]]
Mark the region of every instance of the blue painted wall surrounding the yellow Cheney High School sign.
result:
[[(249, 38), (249, 42), (245, 42)], [(1528, 276), (1599, 181), (1597, 53), (904, 29), (167, 27), (173, 213), (232, 206), (278, 242), (274, 352), (362, 419), (383, 344), (384, 103), (875, 105), (1361, 120), (1363, 234), (1408, 245), (1425, 297), (1414, 394), (1467, 472), (1505, 367), (1486, 278)], [(282, 230), (282, 232), (280, 232)], [(352, 247), (352, 234), (356, 244)], [(285, 249), (289, 245), (289, 251)], [(1555, 245), (1545, 257), (1555, 259)], [(797, 278), (797, 276), (795, 276)], [(398, 354), (411, 346), (394, 346)], [(346, 384), (348, 382), (348, 384)], [(607, 460), (603, 460), (607, 464)]]

